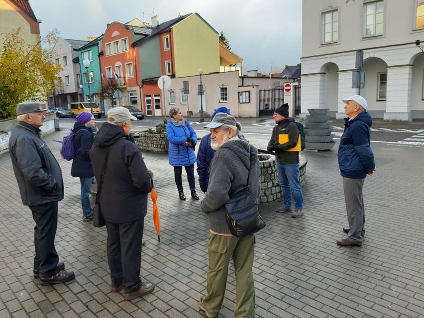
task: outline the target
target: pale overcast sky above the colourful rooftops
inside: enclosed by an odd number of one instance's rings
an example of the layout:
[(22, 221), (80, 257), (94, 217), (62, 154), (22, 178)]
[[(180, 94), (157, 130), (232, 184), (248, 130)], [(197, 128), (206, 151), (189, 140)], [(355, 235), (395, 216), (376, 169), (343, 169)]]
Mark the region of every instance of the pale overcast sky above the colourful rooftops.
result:
[(99, 36), (106, 24), (133, 18), (159, 22), (179, 13), (199, 13), (229, 40), (231, 50), (244, 59), (244, 70), (269, 72), (300, 63), (302, 0), (29, 0), (41, 36), (56, 28), (59, 36), (86, 40)]

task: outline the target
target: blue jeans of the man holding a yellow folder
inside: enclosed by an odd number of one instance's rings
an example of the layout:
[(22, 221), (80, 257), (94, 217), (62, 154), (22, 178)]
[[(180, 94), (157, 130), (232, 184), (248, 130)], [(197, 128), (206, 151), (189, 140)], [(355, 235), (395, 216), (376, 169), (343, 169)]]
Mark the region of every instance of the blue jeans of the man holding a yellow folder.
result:
[(283, 196), (281, 202), (287, 207), (292, 206), (292, 193), (295, 201), (295, 209), (303, 210), (303, 194), (299, 181), (299, 164), (290, 163), (282, 165), (276, 163), (278, 181)]

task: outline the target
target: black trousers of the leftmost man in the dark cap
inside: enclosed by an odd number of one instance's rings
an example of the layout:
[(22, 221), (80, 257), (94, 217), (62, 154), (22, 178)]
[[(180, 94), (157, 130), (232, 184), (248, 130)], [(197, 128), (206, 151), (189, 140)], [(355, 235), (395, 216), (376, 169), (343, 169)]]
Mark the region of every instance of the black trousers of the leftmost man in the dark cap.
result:
[(42, 206), (30, 206), (34, 226), (34, 269), (40, 270), (40, 277), (50, 277), (59, 272), (59, 256), (54, 247), (57, 230), (57, 202)]

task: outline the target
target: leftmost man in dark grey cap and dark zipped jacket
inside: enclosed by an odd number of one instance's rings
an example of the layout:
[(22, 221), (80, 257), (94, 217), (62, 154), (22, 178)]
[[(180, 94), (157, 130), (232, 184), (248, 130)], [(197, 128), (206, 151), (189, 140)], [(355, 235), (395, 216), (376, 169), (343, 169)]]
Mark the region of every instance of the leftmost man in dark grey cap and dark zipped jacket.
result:
[(57, 205), (63, 199), (62, 171), (50, 149), (40, 138), (39, 129), (45, 109), (38, 103), (24, 102), (16, 107), (18, 124), (9, 139), (9, 154), (22, 203), (28, 206), (35, 221), (34, 278), (41, 285), (65, 283), (74, 279), (58, 263), (54, 246), (57, 230)]

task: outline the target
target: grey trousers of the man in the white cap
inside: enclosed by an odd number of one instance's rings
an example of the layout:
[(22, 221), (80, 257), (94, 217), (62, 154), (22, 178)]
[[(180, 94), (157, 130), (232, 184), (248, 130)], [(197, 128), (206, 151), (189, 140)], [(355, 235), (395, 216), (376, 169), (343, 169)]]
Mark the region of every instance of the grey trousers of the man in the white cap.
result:
[(350, 231), (349, 240), (362, 244), (364, 237), (361, 231), (365, 229), (365, 207), (362, 188), (365, 179), (350, 179), (343, 177), (344, 201), (346, 203), (347, 221)]

